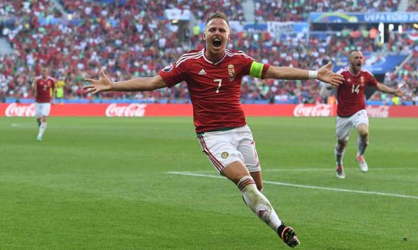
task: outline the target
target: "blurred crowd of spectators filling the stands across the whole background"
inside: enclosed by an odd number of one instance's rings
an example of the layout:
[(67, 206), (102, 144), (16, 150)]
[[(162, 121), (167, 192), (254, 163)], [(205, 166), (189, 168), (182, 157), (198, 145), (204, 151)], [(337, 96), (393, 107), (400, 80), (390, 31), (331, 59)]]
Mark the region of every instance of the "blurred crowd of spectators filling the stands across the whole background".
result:
[[(243, 20), (243, 6), (238, 0), (193, 0), (187, 3), (180, 0), (125, 0), (112, 1), (112, 4), (87, 0), (59, 2), (60, 6), (46, 0), (1, 1), (0, 30), (12, 44), (14, 53), (0, 58), (0, 98), (32, 98), (32, 81), (43, 67), (49, 68), (50, 74), (58, 79), (62, 97), (90, 98), (82, 90), (83, 79), (97, 77), (101, 66), (106, 67), (106, 73), (114, 81), (148, 77), (157, 74), (158, 70), (185, 51), (203, 48), (201, 31), (188, 34), (186, 39), (178, 37), (177, 25), (164, 18), (167, 8), (190, 10), (197, 18), (205, 20), (209, 13), (223, 5), (225, 10), (229, 10), (225, 12), (231, 20)], [(379, 5), (368, 0), (255, 2), (256, 16), (262, 16), (263, 21), (304, 20), (304, 14), (310, 11), (328, 11), (330, 8), (345, 11), (362, 11), (365, 8), (391, 11), (397, 8), (396, 0), (380, 1)], [(269, 11), (263, 6), (269, 6)], [(289, 8), (295, 13), (287, 11)], [(278, 13), (271, 16), (270, 13), (275, 13), (275, 10)], [(279, 12), (291, 14), (281, 16)], [(55, 18), (62, 16), (66, 22), (56, 22)], [(305, 69), (317, 69), (355, 48), (364, 52), (404, 51), (412, 56), (396, 73), (386, 74), (385, 83), (393, 86), (405, 83), (412, 90), (418, 87), (418, 46), (417, 42), (408, 39), (407, 33), (393, 33), (388, 43), (381, 44), (376, 27), (361, 30), (345, 27), (326, 36), (310, 35), (309, 38), (302, 33), (273, 38), (267, 31), (232, 31), (228, 48), (245, 51), (264, 63)], [(321, 86), (317, 81), (245, 77), (241, 97), (245, 102), (329, 102), (319, 95), (319, 89)], [(188, 101), (185, 84), (155, 92), (106, 92), (99, 96), (147, 102)]]

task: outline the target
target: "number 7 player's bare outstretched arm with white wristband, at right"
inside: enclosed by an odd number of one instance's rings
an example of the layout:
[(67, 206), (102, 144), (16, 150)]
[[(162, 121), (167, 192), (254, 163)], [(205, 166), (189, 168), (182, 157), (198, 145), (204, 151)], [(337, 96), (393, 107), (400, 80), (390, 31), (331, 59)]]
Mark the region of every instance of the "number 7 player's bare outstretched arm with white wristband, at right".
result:
[(309, 70), (301, 70), (292, 67), (274, 67), (271, 66), (266, 72), (265, 78), (284, 79), (284, 80), (307, 80), (318, 79), (324, 83), (330, 83), (338, 86), (344, 81), (341, 74), (336, 74), (331, 71), (332, 64), (321, 67), (317, 72)]

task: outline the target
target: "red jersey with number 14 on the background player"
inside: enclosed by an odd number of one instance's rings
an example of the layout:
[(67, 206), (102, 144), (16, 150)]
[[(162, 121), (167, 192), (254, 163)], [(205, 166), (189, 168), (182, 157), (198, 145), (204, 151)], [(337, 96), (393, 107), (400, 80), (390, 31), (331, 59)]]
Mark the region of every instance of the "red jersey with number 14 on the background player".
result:
[(366, 85), (376, 86), (378, 81), (367, 70), (360, 70), (357, 75), (354, 75), (347, 67), (341, 68), (337, 73), (343, 75), (344, 82), (338, 87), (336, 113), (339, 117), (350, 117), (366, 108), (365, 87)]

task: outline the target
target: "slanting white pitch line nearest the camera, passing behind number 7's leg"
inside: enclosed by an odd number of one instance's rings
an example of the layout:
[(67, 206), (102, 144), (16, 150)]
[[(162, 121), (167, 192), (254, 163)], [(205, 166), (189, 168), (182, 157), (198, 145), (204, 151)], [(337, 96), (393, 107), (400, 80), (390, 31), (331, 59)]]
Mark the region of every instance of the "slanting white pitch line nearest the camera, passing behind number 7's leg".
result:
[[(173, 172), (167, 172), (167, 173), (178, 174), (182, 176), (199, 176), (199, 177), (219, 178), (219, 179), (225, 178), (222, 176), (211, 176), (207, 174), (190, 173), (190, 172), (173, 171)], [(307, 185), (291, 184), (291, 183), (284, 183), (284, 182), (271, 182), (269, 180), (265, 180), (263, 182), (268, 183), (268, 184), (280, 185), (280, 186), (295, 186), (295, 187), (304, 188), (304, 189), (320, 189), (320, 190), (338, 191), (338, 192), (347, 192), (347, 193), (362, 193), (365, 195), (382, 195), (382, 196), (400, 197), (400, 198), (408, 198), (408, 199), (418, 199), (418, 196), (398, 195), (396, 193), (382, 193), (382, 192), (360, 191), (360, 190), (352, 190), (352, 189), (335, 189), (335, 188), (328, 188), (325, 186), (307, 186)]]

